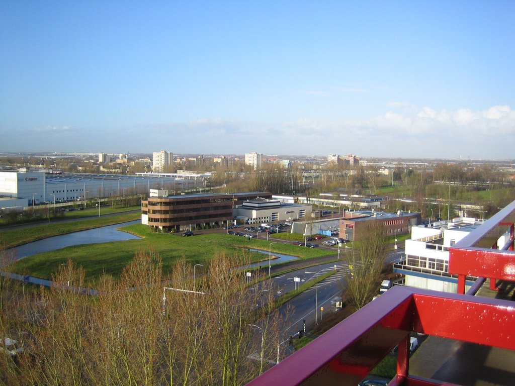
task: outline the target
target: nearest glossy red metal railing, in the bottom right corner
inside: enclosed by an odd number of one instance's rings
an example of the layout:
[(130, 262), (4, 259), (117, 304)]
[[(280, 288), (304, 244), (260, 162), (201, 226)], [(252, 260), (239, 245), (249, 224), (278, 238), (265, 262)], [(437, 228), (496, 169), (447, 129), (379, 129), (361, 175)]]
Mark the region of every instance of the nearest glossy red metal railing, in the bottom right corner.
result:
[(391, 386), (449, 384), (409, 376), (411, 331), (514, 350), (514, 325), (513, 302), (397, 286), (248, 385), (355, 385), (397, 344)]

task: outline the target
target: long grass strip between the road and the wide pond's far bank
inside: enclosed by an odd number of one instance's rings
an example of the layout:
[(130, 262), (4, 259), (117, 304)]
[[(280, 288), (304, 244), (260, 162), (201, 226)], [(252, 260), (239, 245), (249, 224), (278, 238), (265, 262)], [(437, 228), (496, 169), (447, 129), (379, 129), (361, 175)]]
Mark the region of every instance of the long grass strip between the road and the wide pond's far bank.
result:
[[(97, 212), (98, 213), (98, 212)], [(4, 248), (12, 248), (17, 245), (41, 240), (47, 237), (64, 235), (100, 226), (118, 224), (137, 220), (141, 218), (141, 213), (126, 213), (118, 216), (100, 217), (91, 220), (77, 220), (50, 223), (50, 225), (26, 226), (20, 229), (0, 232), (0, 245)]]

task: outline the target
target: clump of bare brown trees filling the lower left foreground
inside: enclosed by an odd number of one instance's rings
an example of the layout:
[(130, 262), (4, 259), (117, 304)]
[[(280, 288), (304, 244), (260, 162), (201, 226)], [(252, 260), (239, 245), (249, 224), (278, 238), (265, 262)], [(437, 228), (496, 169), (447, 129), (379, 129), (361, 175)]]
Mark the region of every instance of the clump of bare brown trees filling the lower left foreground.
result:
[(49, 289), (23, 293), (3, 277), (0, 334), (23, 353), (0, 353), (0, 383), (245, 384), (273, 363), (284, 338), (269, 312), (270, 280), (249, 288), (237, 269), (244, 264), (217, 255), (194, 277), (182, 259), (165, 277), (156, 253), (139, 252), (119, 278), (98, 278), (95, 296), (78, 290), (84, 271), (72, 261)]

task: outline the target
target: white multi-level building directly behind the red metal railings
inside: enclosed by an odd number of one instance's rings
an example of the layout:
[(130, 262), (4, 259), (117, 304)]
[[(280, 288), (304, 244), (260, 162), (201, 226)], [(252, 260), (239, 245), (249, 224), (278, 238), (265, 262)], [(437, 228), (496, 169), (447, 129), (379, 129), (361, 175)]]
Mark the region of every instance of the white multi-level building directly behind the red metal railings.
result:
[[(405, 256), (393, 265), (393, 272), (405, 275), (406, 286), (456, 293), (457, 277), (449, 274), (449, 248), (482, 223), (483, 220), (460, 217), (452, 222), (411, 227)], [(467, 277), (467, 288), (474, 279)]]

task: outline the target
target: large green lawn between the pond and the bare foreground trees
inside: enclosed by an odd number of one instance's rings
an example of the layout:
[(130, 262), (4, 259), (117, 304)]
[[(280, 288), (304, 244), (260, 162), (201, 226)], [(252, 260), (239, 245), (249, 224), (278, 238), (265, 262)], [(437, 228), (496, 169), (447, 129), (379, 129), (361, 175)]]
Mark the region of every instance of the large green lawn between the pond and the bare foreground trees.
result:
[(150, 227), (135, 224), (123, 227), (124, 231), (144, 237), (141, 240), (115, 241), (101, 244), (77, 245), (57, 251), (50, 251), (26, 257), (9, 267), (12, 272), (30, 274), (49, 279), (60, 264), (68, 258), (84, 268), (88, 280), (106, 272), (117, 276), (132, 260), (138, 251), (153, 250), (163, 259), (164, 271), (168, 271), (180, 257), (185, 257), (191, 264), (203, 264), (217, 253), (231, 256), (248, 256), (253, 261), (267, 260), (260, 253), (251, 253), (248, 248), (299, 256), (300, 258), (316, 258), (334, 254), (333, 251), (317, 248), (301, 248), (289, 243), (277, 242), (270, 244), (266, 240), (247, 240), (244, 237), (224, 233), (182, 237), (181, 235), (161, 234), (151, 232)]

